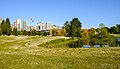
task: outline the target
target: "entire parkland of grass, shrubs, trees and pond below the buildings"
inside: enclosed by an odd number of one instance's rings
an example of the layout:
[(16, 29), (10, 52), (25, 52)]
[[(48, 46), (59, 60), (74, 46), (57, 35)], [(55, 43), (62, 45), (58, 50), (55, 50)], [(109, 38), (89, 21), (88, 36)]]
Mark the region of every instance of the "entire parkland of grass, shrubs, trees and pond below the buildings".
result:
[(120, 25), (81, 27), (74, 18), (62, 29), (17, 31), (3, 20), (0, 69), (120, 69)]

